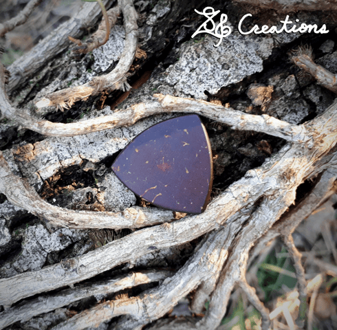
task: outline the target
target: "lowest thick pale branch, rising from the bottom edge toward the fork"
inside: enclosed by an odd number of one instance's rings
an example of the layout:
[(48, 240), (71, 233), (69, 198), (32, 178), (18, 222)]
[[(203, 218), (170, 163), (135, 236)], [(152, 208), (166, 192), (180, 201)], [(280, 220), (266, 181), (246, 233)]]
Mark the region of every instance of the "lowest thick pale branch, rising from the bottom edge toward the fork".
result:
[[(166, 314), (181, 298), (191, 292), (200, 281), (217, 276), (228, 256), (228, 248), (233, 237), (229, 237), (228, 228), (208, 234), (190, 260), (171, 278), (167, 278), (160, 287), (144, 292), (139, 297), (113, 300), (97, 305), (89, 311), (74, 316), (54, 329), (85, 329), (95, 327), (100, 322), (114, 316), (130, 314), (142, 324), (156, 320)], [(156, 303), (153, 304), (153, 301)], [(134, 327), (134, 325), (133, 325)], [(134, 328), (133, 328), (134, 329)]]

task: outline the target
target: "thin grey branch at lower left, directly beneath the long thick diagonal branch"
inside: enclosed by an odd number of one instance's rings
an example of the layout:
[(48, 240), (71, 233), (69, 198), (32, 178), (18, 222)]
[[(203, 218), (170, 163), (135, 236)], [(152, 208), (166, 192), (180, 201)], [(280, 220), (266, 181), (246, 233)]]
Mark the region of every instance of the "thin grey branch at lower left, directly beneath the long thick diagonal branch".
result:
[(28, 321), (34, 316), (67, 306), (80, 299), (91, 296), (102, 296), (103, 298), (107, 294), (118, 292), (129, 287), (162, 281), (172, 275), (173, 273), (168, 271), (136, 272), (107, 282), (78, 285), (74, 287), (74, 289), (65, 289), (51, 296), (40, 296), (39, 298), (28, 300), (19, 306), (11, 307), (0, 313), (0, 329), (12, 325), (12, 323), (17, 321)]

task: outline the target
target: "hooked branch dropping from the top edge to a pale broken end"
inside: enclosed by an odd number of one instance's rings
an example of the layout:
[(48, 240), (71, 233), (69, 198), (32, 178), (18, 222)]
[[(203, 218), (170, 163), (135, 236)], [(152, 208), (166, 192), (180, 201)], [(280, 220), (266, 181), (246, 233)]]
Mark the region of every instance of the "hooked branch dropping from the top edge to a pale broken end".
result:
[(131, 0), (121, 0), (120, 8), (124, 16), (125, 45), (120, 61), (115, 69), (109, 74), (94, 77), (85, 85), (70, 87), (61, 91), (56, 91), (36, 103), (37, 107), (56, 106), (58, 108), (69, 109), (78, 100), (86, 100), (89, 96), (98, 94), (103, 89), (113, 91), (115, 89), (129, 90), (127, 83), (127, 72), (135, 58), (135, 51), (138, 43), (137, 12)]

